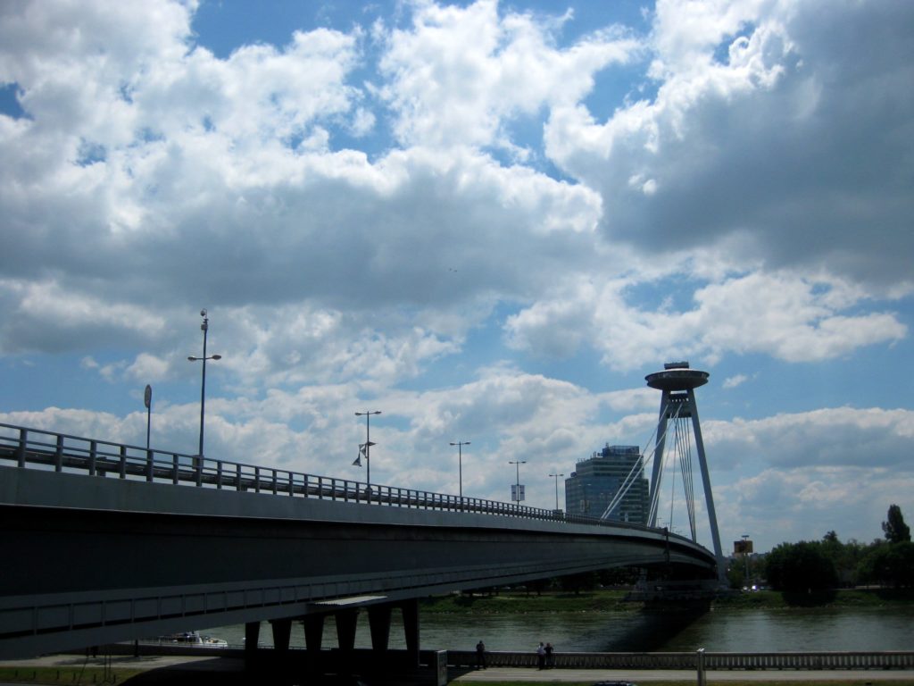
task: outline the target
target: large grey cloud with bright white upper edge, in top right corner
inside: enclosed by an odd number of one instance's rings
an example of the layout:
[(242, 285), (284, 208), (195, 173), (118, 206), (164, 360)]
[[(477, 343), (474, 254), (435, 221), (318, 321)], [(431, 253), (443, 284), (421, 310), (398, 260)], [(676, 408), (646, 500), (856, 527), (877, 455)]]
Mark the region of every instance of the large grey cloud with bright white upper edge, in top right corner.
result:
[(657, 251), (739, 235), (774, 268), (909, 289), (911, 20), (897, 3), (660, 2), (656, 96), (605, 122), (557, 108), (547, 150), (600, 188), (613, 240)]

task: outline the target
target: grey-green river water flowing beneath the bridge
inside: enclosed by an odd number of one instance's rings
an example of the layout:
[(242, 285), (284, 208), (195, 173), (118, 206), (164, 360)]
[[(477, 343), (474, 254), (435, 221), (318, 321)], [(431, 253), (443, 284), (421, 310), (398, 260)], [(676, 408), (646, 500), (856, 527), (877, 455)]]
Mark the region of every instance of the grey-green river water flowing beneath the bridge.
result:
[[(392, 617), (390, 648), (405, 648), (399, 613)], [(242, 625), (204, 632), (241, 645)], [(711, 610), (684, 613), (528, 613), (525, 615), (423, 615), (422, 648), (533, 650), (540, 641), (559, 652), (685, 651), (788, 652), (804, 650), (914, 650), (914, 607), (825, 610)], [(260, 644), (272, 645), (268, 624)], [(324, 648), (335, 648), (332, 618), (324, 625)], [(359, 616), (356, 648), (369, 648), (367, 616)], [(292, 647), (304, 647), (300, 625)]]

